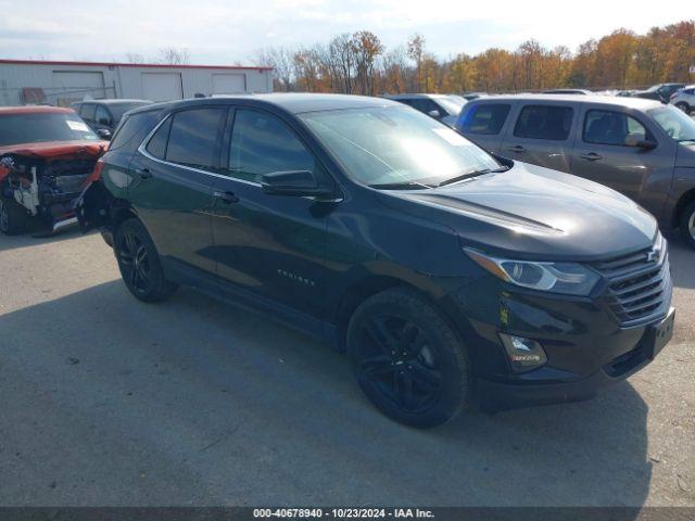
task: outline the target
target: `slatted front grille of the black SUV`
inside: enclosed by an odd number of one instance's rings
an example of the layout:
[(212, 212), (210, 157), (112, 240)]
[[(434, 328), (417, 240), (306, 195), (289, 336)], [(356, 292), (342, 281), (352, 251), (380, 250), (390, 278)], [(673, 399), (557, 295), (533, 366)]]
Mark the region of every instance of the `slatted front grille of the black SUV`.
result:
[(622, 325), (645, 321), (666, 313), (671, 300), (671, 274), (666, 241), (593, 264), (608, 281), (610, 312)]

